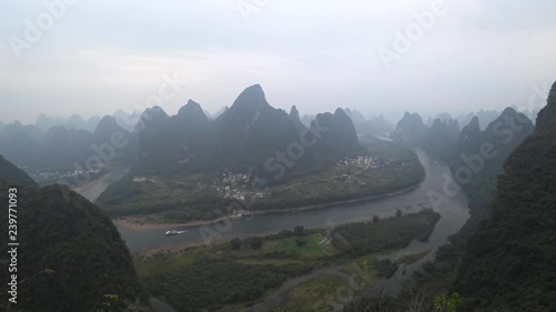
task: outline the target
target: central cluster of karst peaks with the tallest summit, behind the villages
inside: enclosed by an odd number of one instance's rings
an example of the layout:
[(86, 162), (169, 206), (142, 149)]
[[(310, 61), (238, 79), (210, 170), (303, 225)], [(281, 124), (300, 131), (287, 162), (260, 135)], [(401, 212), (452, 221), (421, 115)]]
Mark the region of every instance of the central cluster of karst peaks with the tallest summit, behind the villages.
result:
[(272, 108), (258, 84), (247, 88), (214, 120), (192, 100), (172, 117), (159, 107), (148, 109), (135, 133), (139, 167), (146, 170), (261, 169), (274, 167), (272, 158), (282, 153), (302, 167), (317, 154), (342, 157), (360, 151), (354, 123), (342, 109), (317, 114), (306, 125), (296, 107), (289, 113)]

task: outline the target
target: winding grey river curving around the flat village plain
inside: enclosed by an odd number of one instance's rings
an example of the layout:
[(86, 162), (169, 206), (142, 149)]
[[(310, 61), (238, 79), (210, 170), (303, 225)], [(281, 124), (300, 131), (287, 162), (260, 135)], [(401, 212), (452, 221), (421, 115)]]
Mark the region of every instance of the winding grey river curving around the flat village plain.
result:
[[(176, 230), (186, 231), (175, 236), (166, 236), (166, 230), (129, 231), (119, 228), (131, 251), (160, 248), (163, 245), (178, 245), (187, 243), (207, 242), (203, 236), (231, 240), (236, 236), (259, 235), (292, 229), (296, 225), (305, 228), (334, 228), (337, 224), (371, 220), (373, 215), (394, 215), (397, 209), (404, 212), (417, 212), (421, 207), (433, 207), (428, 197), (430, 191), (443, 194), (445, 174), (451, 177), (449, 168), (434, 155), (416, 150), (425, 168), (425, 181), (415, 190), (405, 194), (369, 200), (358, 203), (346, 203), (321, 209), (305, 210), (300, 212), (281, 212), (257, 215), (250, 221), (226, 221), (210, 225), (181, 227)], [(127, 170), (117, 170), (105, 177), (93, 188), (83, 193), (89, 200), (95, 200), (111, 183), (121, 179)], [(421, 207), (419, 207), (421, 204)], [(413, 242), (399, 250), (395, 256), (410, 254), (427, 249), (436, 249), (446, 242), (447, 236), (456, 233), (469, 218), (467, 195), (461, 191), (453, 197), (448, 203), (444, 202), (435, 209), (441, 215), (427, 242)], [(170, 229), (168, 229), (170, 230)]]

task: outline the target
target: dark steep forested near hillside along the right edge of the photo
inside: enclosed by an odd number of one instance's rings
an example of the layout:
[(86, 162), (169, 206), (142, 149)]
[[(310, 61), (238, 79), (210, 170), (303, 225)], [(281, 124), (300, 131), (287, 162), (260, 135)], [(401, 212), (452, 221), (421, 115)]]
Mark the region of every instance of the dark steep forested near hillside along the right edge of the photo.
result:
[(556, 83), (508, 158), (456, 279), (464, 311), (556, 311)]

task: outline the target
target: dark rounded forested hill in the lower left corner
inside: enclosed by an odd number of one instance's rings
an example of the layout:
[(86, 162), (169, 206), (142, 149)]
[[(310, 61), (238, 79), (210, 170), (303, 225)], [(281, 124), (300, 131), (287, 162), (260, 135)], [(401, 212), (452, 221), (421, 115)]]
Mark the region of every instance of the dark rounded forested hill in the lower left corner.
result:
[[(10, 180), (9, 172), (0, 173)], [(4, 203), (9, 184), (0, 182)], [(129, 250), (97, 207), (58, 185), (18, 187), (17, 195), (19, 311), (123, 311), (137, 301), (147, 302)], [(0, 224), (6, 246), (8, 213), (0, 215)], [(8, 268), (2, 263), (1, 280), (7, 281)], [(7, 293), (1, 300), (8, 302)]]

